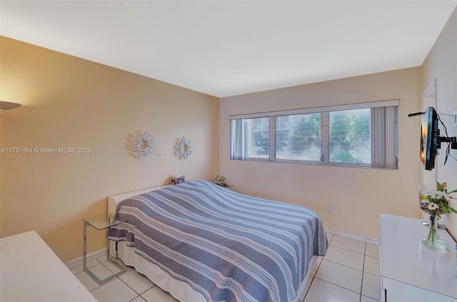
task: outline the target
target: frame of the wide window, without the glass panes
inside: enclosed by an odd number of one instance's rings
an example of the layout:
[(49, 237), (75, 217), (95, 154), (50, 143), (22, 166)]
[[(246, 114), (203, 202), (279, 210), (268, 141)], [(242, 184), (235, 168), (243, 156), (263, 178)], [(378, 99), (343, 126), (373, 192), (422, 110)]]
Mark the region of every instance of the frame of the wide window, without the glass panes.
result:
[[(396, 158), (395, 167), (378, 167), (373, 166), (373, 160), (370, 163), (350, 163), (350, 162), (335, 162), (329, 161), (330, 151), (329, 151), (329, 113), (333, 111), (348, 111), (353, 109), (375, 109), (375, 108), (382, 108), (382, 107), (396, 107), (396, 115), (394, 120), (393, 127), (395, 128), (395, 146), (394, 149), (391, 151), (385, 151), (384, 153), (393, 153), (393, 156)], [(262, 162), (275, 162), (275, 163), (298, 163), (298, 164), (313, 164), (313, 165), (322, 165), (322, 166), (346, 166), (346, 167), (361, 167), (361, 168), (383, 168), (383, 169), (398, 169), (398, 106), (400, 106), (400, 101), (398, 99), (388, 100), (388, 101), (375, 101), (375, 102), (368, 102), (368, 103), (358, 103), (358, 104), (346, 104), (346, 105), (338, 105), (338, 106), (325, 106), (325, 107), (315, 107), (309, 109), (292, 109), (286, 111), (269, 111), (269, 112), (261, 112), (255, 114), (241, 114), (241, 115), (231, 115), (229, 116), (230, 123), (233, 120), (238, 119), (257, 119), (257, 118), (266, 118), (268, 117), (269, 125), (269, 157), (268, 158), (249, 158), (249, 157), (241, 157), (235, 158), (233, 156), (233, 149), (231, 146), (231, 160), (242, 160), (242, 161), (262, 161)], [(284, 159), (284, 158), (276, 158), (276, 117), (278, 116), (292, 116), (296, 114), (321, 114), (321, 158), (320, 161), (311, 161), (311, 160), (300, 160), (300, 159)], [(371, 119), (371, 126), (370, 126), (370, 140), (371, 140), (371, 148), (373, 149), (373, 134), (372, 134), (372, 127), (373, 127), (373, 111), (371, 111), (370, 119)], [(392, 125), (390, 126), (392, 127)], [(230, 127), (232, 129), (232, 126)], [(232, 131), (230, 133), (231, 142), (233, 141), (233, 134)], [(373, 151), (371, 151), (371, 158), (373, 156)]]

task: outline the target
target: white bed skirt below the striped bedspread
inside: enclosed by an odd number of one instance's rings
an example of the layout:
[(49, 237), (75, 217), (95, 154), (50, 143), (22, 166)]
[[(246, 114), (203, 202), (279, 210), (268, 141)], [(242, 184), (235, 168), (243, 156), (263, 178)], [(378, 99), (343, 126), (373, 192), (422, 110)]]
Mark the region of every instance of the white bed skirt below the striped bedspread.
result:
[[(191, 288), (188, 283), (176, 280), (171, 277), (164, 270), (156, 266), (151, 261), (146, 260), (142, 256), (139, 256), (134, 252), (134, 248), (126, 246), (125, 241), (120, 241), (118, 245), (119, 258), (128, 266), (133, 266), (136, 271), (142, 273), (148, 277), (154, 284), (162, 288), (164, 291), (168, 291), (171, 296), (178, 299), (179, 301), (192, 301), (192, 302), (206, 302), (206, 298)], [(311, 258), (311, 262), (308, 268), (306, 278), (298, 288), (298, 295), (291, 302), (297, 302), (299, 298), (302, 298), (306, 291), (306, 283), (308, 283), (309, 272), (311, 268), (316, 265), (317, 256)]]

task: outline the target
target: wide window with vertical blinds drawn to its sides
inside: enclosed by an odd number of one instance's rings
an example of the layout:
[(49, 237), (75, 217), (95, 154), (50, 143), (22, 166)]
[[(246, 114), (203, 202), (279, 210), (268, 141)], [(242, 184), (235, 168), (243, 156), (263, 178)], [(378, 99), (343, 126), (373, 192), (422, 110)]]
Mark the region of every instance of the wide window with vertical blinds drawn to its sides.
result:
[(231, 119), (231, 159), (398, 168), (398, 100)]

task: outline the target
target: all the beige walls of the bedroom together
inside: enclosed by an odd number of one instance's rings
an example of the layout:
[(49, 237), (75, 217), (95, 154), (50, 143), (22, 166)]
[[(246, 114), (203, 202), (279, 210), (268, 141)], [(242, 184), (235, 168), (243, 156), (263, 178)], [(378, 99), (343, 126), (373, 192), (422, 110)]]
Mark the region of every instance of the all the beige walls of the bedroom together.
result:
[[(421, 109), (421, 91), (435, 78), (438, 112), (457, 110), (456, 14), (423, 68), (233, 96), (220, 103), (195, 91), (1, 37), (0, 97), (24, 106), (0, 113), (0, 147), (93, 151), (0, 153), (0, 236), (35, 229), (69, 261), (81, 256), (81, 219), (106, 212), (106, 196), (168, 183), (174, 173), (211, 179), (221, 172), (236, 191), (308, 206), (321, 215), (326, 228), (379, 238), (379, 213), (421, 215), (420, 121), (406, 116)], [(387, 99), (401, 100), (398, 170), (229, 159), (231, 114)], [(456, 135), (445, 119), (449, 134)], [(126, 137), (137, 129), (156, 139), (150, 159), (127, 153)], [(194, 154), (186, 161), (171, 156), (172, 142), (180, 136), (194, 144)], [(438, 156), (438, 180), (456, 188), (456, 161), (450, 158), (446, 166), (442, 162)], [(333, 213), (327, 213), (327, 206)], [(449, 225), (455, 238), (457, 219), (450, 217)], [(91, 231), (89, 236), (89, 251), (106, 245), (104, 232)]]

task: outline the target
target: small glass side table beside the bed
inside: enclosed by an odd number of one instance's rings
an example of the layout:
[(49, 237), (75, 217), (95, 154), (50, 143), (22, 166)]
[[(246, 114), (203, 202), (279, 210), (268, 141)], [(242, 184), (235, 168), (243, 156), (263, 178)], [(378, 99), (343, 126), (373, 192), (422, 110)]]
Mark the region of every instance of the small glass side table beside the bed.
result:
[[(117, 276), (121, 275), (122, 273), (126, 272), (126, 268), (123, 266), (120, 266), (116, 261), (111, 260), (109, 257), (109, 239), (108, 241), (108, 248), (106, 251), (106, 261), (111, 263), (112, 265), (116, 266), (120, 271), (117, 273), (114, 273), (112, 276), (109, 276), (108, 278), (104, 278), (103, 280), (100, 280), (99, 277), (95, 276), (94, 273), (92, 273), (89, 268), (87, 268), (87, 226), (92, 226), (96, 228), (97, 230), (101, 231), (104, 230), (105, 228), (109, 228), (111, 226), (117, 226), (118, 224), (126, 222), (125, 219), (119, 218), (114, 214), (101, 214), (98, 216), (94, 217), (89, 217), (89, 218), (84, 218), (84, 244), (83, 244), (83, 271), (85, 271), (91, 278), (96, 281), (99, 285), (105, 283), (106, 281), (110, 281), (111, 279), (116, 278)], [(116, 257), (117, 257), (117, 242), (116, 242)]]

